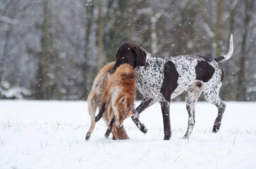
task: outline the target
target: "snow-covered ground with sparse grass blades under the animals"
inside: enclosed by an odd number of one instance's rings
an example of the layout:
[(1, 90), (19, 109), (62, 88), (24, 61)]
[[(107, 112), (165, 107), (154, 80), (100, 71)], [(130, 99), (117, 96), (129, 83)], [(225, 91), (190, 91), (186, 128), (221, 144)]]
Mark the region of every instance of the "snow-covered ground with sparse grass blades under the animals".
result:
[[(139, 105), (140, 102), (136, 102)], [(212, 133), (217, 108), (196, 106), (196, 125), (188, 124), (185, 103), (171, 104), (172, 137), (163, 141), (159, 104), (140, 115), (145, 135), (126, 119), (131, 140), (106, 140), (100, 120), (86, 142), (90, 118), (85, 101), (0, 101), (0, 169), (76, 168), (256, 168), (256, 103), (226, 102), (220, 131)]]

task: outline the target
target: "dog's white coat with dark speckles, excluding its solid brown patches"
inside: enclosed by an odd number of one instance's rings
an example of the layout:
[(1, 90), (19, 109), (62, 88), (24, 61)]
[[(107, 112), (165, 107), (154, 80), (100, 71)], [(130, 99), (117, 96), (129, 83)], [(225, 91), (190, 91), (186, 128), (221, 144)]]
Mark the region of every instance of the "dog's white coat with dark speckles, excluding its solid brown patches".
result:
[[(168, 61), (172, 61), (179, 74), (179, 77), (177, 81), (178, 86), (172, 92), (171, 99), (175, 98), (186, 90), (186, 105), (189, 119), (188, 130), (183, 138), (188, 139), (193, 130), (195, 124), (195, 105), (197, 98), (202, 92), (204, 92), (204, 97), (207, 101), (218, 107), (219, 114), (213, 127), (213, 132), (217, 132), (220, 128), (220, 121), (225, 110), (225, 104), (219, 98), (219, 89), (222, 84), (222, 71), (220, 65), (211, 59), (211, 61), (208, 63), (215, 69), (215, 71), (209, 81), (203, 82), (196, 80), (195, 67), (198, 62), (205, 61), (204, 58), (194, 55), (184, 55), (177, 57), (155, 57), (146, 50), (145, 52), (147, 53), (146, 66), (137, 66), (135, 68), (137, 83), (136, 86), (140, 93), (143, 95), (143, 101), (136, 110), (140, 113), (150, 105), (159, 102), (162, 106), (163, 118), (165, 115), (169, 116), (170, 103), (166, 101), (163, 94), (161, 93), (161, 87), (164, 81), (164, 65)], [(200, 82), (201, 86), (197, 87), (195, 85), (196, 82)], [(164, 105), (165, 108), (163, 108)], [(164, 119), (164, 123), (165, 121), (167, 120)], [(168, 125), (169, 124), (167, 124), (167, 128)], [(171, 133), (171, 131), (165, 129), (164, 134), (168, 132)]]

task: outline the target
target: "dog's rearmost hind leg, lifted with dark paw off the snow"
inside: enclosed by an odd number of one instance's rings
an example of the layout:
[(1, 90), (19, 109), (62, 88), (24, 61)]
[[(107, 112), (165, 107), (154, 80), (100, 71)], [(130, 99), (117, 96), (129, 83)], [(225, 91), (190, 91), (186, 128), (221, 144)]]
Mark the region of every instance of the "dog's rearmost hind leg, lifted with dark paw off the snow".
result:
[(204, 98), (211, 104), (214, 104), (218, 108), (218, 116), (214, 121), (213, 125), (213, 133), (216, 133), (220, 130), (220, 125), (221, 125), (221, 119), (223, 116), (223, 113), (226, 108), (226, 104), (220, 99), (219, 97), (219, 90), (220, 90), (221, 84), (217, 84), (216, 86), (209, 86), (206, 85), (204, 87)]

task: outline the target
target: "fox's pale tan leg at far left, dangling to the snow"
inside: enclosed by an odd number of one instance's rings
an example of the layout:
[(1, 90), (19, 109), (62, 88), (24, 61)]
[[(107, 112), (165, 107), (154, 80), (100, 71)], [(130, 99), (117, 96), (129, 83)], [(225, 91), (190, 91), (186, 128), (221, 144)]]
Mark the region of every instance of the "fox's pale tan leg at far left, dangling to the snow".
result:
[(92, 99), (88, 98), (88, 112), (89, 112), (89, 115), (91, 116), (91, 126), (90, 126), (90, 129), (89, 129), (89, 131), (87, 132), (87, 134), (85, 136), (86, 141), (88, 141), (90, 139), (92, 131), (95, 127), (94, 119), (95, 119), (96, 109), (97, 109), (97, 104)]

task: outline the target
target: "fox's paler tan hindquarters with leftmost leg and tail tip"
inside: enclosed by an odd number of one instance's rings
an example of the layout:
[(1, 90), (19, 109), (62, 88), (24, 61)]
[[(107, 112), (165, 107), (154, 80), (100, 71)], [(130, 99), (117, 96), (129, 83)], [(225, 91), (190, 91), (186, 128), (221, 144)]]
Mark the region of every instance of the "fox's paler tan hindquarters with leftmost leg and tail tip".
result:
[[(115, 65), (115, 62), (110, 62), (107, 65), (105, 65), (100, 72), (98, 73), (98, 75), (96, 76), (94, 82), (93, 82), (93, 86), (92, 86), (92, 90), (88, 96), (88, 112), (91, 116), (91, 126), (89, 131), (86, 134), (85, 140), (88, 141), (90, 139), (90, 136), (92, 134), (92, 131), (95, 127), (95, 112), (97, 107), (101, 107), (100, 105), (100, 100), (102, 98), (103, 92), (106, 89), (106, 85), (107, 85), (107, 80), (110, 77), (110, 70), (112, 69), (112, 67)], [(108, 124), (108, 113), (107, 111), (103, 112), (103, 120)], [(116, 131), (113, 131), (113, 133), (117, 132), (116, 137), (120, 140), (124, 140), (124, 139), (130, 139), (129, 136), (126, 134), (124, 126), (117, 128)], [(116, 138), (115, 138), (116, 139)]]

